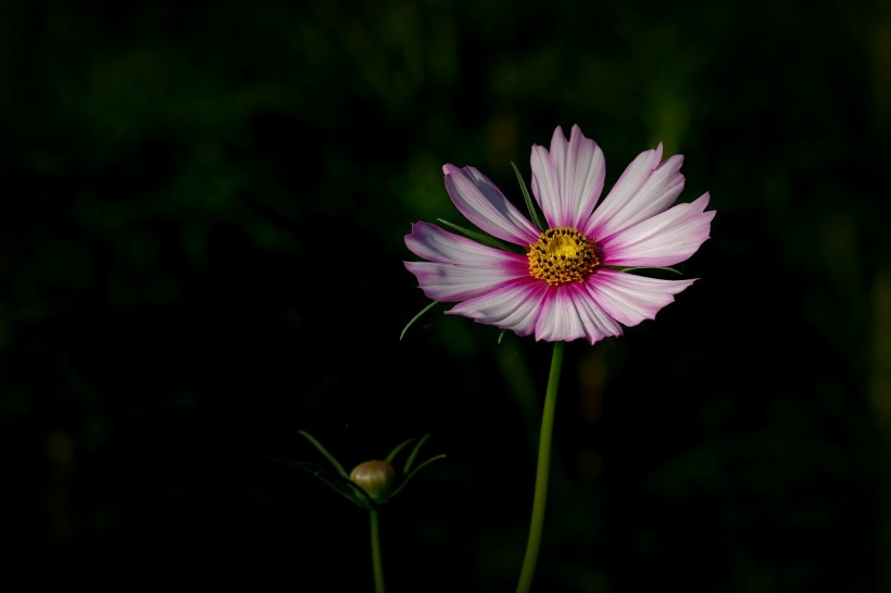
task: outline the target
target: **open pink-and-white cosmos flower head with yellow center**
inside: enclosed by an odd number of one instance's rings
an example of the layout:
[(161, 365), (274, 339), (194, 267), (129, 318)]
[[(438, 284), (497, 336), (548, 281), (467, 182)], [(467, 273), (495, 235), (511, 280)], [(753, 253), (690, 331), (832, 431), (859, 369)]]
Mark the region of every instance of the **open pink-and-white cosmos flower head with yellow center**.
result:
[[(472, 166), (442, 167), (457, 210), (477, 228), (518, 249), (499, 249), (418, 222), (405, 236), (423, 262), (405, 262), (429, 299), (456, 303), (447, 313), (535, 335), (536, 340), (591, 344), (620, 336), (675, 300), (695, 279), (667, 280), (628, 268), (667, 267), (708, 239), (708, 193), (675, 204), (683, 189), (681, 155), (642, 152), (598, 203), (603, 152), (573, 126), (560, 126), (550, 151), (534, 146), (532, 194), (547, 228), (536, 227)], [(674, 204), (674, 205), (673, 205)], [(536, 215), (532, 214), (535, 218)], [(542, 225), (544, 226), (544, 225)]]

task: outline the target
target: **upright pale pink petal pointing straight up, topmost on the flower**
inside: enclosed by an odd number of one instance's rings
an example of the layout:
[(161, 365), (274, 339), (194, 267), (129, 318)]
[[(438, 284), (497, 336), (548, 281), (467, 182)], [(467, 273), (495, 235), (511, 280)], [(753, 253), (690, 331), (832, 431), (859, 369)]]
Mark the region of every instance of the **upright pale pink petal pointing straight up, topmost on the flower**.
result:
[(568, 142), (557, 126), (550, 153), (534, 146), (530, 164), (532, 194), (548, 225), (578, 228), (594, 210), (603, 190), (603, 151), (585, 137), (578, 125), (573, 126)]

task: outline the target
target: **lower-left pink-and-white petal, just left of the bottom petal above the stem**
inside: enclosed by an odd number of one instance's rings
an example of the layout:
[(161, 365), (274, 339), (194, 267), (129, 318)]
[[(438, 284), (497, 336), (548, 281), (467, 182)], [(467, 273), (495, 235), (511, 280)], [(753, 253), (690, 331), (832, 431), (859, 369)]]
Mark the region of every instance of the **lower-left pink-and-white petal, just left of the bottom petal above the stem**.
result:
[(480, 324), (528, 336), (548, 294), (548, 285), (528, 278), (504, 282), (486, 294), (459, 303), (447, 311)]

